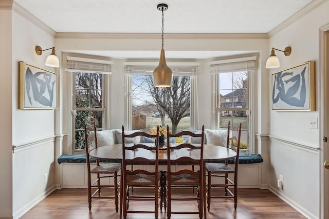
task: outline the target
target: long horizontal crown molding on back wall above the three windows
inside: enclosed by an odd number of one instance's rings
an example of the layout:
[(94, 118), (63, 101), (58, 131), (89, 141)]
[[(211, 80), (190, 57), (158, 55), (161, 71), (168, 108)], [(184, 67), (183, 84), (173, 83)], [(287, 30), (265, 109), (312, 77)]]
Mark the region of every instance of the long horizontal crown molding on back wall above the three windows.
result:
[[(55, 38), (158, 39), (160, 33), (56, 33)], [(267, 39), (267, 33), (167, 33), (166, 39)]]

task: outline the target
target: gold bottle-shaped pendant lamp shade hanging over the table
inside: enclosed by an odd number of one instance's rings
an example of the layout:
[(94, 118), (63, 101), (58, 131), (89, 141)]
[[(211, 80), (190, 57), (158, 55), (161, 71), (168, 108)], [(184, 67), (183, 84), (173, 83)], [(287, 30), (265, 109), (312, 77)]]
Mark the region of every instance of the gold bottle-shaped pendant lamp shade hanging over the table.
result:
[(159, 65), (153, 71), (155, 87), (170, 87), (173, 72), (167, 66), (165, 50), (161, 49)]

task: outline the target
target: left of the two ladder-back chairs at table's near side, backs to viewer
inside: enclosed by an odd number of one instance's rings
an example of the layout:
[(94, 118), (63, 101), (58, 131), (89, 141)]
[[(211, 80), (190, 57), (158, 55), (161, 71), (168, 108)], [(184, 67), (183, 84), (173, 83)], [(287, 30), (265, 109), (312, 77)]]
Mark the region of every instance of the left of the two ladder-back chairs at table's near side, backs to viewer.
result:
[[(154, 144), (125, 144), (126, 138), (134, 138), (136, 136), (145, 136), (156, 139)], [(151, 150), (155, 151), (151, 153)], [(154, 154), (154, 156), (152, 156)], [(134, 170), (129, 170), (127, 167), (134, 165)], [(154, 166), (154, 171), (139, 169), (140, 165)], [(154, 213), (154, 217), (158, 218), (159, 215), (159, 202), (161, 197), (160, 188), (160, 174), (159, 174), (159, 126), (157, 127), (156, 134), (149, 134), (142, 131), (137, 131), (131, 134), (125, 134), (124, 127), (122, 126), (122, 172), (123, 172), (123, 217), (126, 218), (127, 213)], [(135, 191), (131, 192), (130, 188), (134, 187)], [(154, 194), (137, 195), (136, 188), (139, 187), (152, 187)], [(134, 194), (133, 194), (134, 193)], [(129, 210), (131, 201), (153, 201), (154, 209), (145, 210)]]

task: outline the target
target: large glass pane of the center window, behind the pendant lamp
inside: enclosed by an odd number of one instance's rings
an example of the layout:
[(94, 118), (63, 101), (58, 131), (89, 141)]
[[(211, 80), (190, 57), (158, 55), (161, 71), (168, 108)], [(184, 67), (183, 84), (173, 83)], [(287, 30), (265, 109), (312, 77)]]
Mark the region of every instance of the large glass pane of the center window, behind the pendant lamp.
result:
[(157, 125), (169, 125), (173, 132), (190, 129), (189, 76), (174, 76), (170, 88), (156, 88), (150, 75), (131, 75), (131, 79), (133, 130), (149, 131)]

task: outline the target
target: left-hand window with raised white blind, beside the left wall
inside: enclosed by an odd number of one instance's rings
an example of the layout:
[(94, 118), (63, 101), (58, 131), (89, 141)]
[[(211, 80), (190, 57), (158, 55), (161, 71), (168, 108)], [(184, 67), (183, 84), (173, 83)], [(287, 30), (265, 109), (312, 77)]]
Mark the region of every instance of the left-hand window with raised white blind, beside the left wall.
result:
[(68, 56), (67, 66), (73, 74), (72, 152), (77, 152), (85, 148), (84, 123), (95, 121), (98, 130), (106, 126), (106, 82), (112, 62)]

